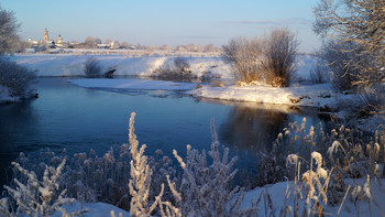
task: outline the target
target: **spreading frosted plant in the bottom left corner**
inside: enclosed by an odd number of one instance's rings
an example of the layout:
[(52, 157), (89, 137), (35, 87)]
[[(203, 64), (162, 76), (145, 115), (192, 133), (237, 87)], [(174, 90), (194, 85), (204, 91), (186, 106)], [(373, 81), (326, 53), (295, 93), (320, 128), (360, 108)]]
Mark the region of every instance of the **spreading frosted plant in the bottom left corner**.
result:
[[(14, 178), (15, 188), (4, 186), (9, 195), (16, 202), (15, 215), (26, 214), (29, 216), (52, 216), (55, 211), (61, 211), (63, 216), (68, 216), (62, 207), (64, 204), (74, 203), (74, 198), (66, 198), (66, 189), (59, 192), (59, 178), (66, 160), (55, 169), (45, 167), (43, 181), (38, 181), (33, 171), (24, 170), (19, 163), (12, 162), (23, 175), (28, 177), (26, 184)], [(77, 215), (84, 213), (72, 213)]]

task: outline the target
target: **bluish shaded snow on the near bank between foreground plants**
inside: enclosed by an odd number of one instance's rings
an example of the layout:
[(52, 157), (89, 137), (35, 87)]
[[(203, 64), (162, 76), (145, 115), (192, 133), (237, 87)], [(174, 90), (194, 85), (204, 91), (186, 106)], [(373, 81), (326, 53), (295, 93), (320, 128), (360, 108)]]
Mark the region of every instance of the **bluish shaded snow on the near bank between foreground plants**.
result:
[[(366, 183), (366, 177), (360, 178), (360, 180), (345, 180), (346, 186), (354, 184), (364, 184)], [(385, 178), (381, 180), (381, 182), (385, 182)], [(273, 206), (275, 208), (275, 216), (279, 216), (280, 208), (284, 207), (285, 205), (285, 192), (287, 188), (287, 185), (289, 185), (289, 189), (293, 188), (294, 181), (290, 182), (280, 182), (276, 184), (270, 184), (265, 185), (263, 187), (256, 187), (252, 191), (249, 191), (245, 193), (243, 204), (241, 205), (241, 209), (248, 208), (251, 206), (251, 202), (253, 200), (254, 203), (260, 197), (261, 193), (268, 193), (271, 195)], [(369, 188), (366, 189), (369, 191)], [(385, 194), (384, 187), (381, 187), (377, 183), (372, 182), (371, 184), (371, 196), (374, 198), (380, 207), (383, 209), (385, 207)], [(353, 192), (353, 188), (351, 188), (350, 193)], [(305, 195), (304, 195), (305, 196)], [(293, 193), (290, 194), (288, 200), (286, 202), (287, 205), (293, 206), (294, 200), (293, 200)], [(299, 202), (299, 214), (301, 214), (301, 210), (304, 208), (305, 204), (305, 197), (302, 197)], [(326, 213), (331, 214), (331, 216), (336, 216), (339, 207), (338, 206), (326, 206)], [(370, 207), (371, 206), (371, 207)], [(264, 208), (264, 202), (263, 198), (258, 204), (258, 216), (266, 216), (265, 215), (265, 208)], [(88, 211), (85, 214), (85, 217), (103, 217), (103, 216), (110, 216), (111, 210), (114, 211), (116, 216), (119, 216), (119, 213), (122, 213), (123, 216), (129, 216), (129, 211), (125, 211), (123, 209), (120, 209), (113, 205), (110, 204), (105, 204), (105, 203), (95, 203), (95, 204), (89, 204), (89, 203), (75, 203), (72, 205), (65, 205), (64, 208), (67, 210), (67, 213), (70, 211), (78, 211), (80, 209), (88, 209)], [(58, 214), (58, 213), (57, 213)], [(361, 216), (382, 216), (380, 209), (371, 203), (369, 204), (367, 199), (364, 199), (361, 202)], [(270, 213), (267, 213), (267, 216), (270, 216)], [(343, 203), (343, 206), (341, 208), (340, 215), (341, 217), (349, 217), (349, 216), (358, 216), (358, 209), (355, 208), (354, 202), (350, 199), (350, 195), (348, 195), (346, 199)]]

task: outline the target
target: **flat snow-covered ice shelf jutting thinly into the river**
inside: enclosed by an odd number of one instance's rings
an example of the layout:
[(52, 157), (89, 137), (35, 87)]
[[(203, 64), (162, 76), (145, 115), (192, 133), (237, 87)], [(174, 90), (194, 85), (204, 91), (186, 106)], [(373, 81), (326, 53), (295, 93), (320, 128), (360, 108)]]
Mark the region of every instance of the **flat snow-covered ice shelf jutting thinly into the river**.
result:
[(193, 83), (175, 83), (146, 79), (74, 79), (72, 84), (87, 88), (141, 89), (141, 90), (188, 90), (195, 88)]

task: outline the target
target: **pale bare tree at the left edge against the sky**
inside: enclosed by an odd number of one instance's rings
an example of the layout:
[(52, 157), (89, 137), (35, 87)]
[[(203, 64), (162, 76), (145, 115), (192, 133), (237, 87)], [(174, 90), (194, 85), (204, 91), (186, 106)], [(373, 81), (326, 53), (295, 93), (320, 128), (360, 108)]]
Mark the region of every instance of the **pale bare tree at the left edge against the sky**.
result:
[(14, 13), (1, 9), (0, 6), (0, 55), (14, 52), (19, 42), (16, 34), (20, 28)]

